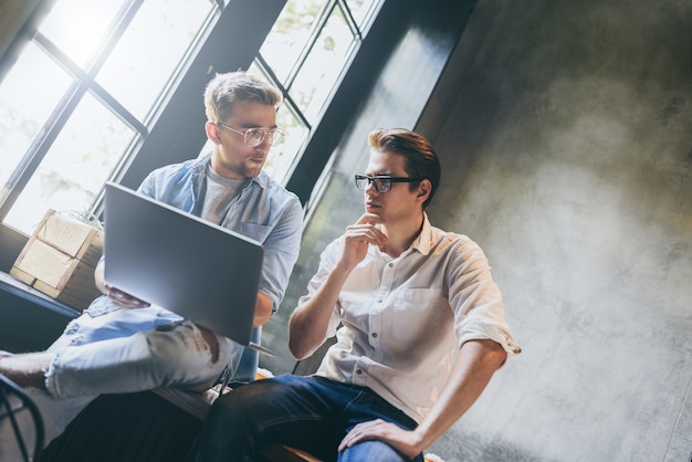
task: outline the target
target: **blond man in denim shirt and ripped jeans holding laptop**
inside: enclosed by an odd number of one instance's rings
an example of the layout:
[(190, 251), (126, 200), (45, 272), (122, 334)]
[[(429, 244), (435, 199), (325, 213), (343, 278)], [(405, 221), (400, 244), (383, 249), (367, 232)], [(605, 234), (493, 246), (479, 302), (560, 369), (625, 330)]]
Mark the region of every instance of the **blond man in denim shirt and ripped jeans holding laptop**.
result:
[[(139, 187), (146, 196), (263, 244), (254, 326), (266, 323), (279, 307), (303, 229), (298, 198), (262, 170), (271, 146), (283, 138), (276, 127), (281, 102), (274, 86), (253, 75), (216, 75), (205, 92), (205, 129), (213, 150), (159, 168)], [(203, 390), (224, 370), (237, 372), (243, 353), (229, 338), (111, 286), (104, 280), (105, 264), (107, 255), (95, 271), (104, 295), (46, 351), (0, 355), (0, 374), (30, 391), (39, 405), (46, 443), (101, 393), (160, 386)], [(0, 460), (12, 460), (7, 430), (0, 428)]]

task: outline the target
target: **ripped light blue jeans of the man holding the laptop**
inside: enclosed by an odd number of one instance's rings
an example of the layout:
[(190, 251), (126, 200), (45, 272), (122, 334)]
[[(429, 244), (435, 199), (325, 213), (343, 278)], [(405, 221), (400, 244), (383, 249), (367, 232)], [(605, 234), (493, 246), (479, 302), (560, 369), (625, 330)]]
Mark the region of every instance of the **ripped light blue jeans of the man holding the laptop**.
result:
[[(115, 307), (95, 300), (48, 349), (55, 354), (46, 375), (48, 392), (27, 389), (45, 426), (45, 445), (98, 395), (149, 390), (160, 386), (205, 390), (228, 366), (233, 372), (243, 347), (218, 336), (219, 358), (192, 323), (167, 309)], [(29, 426), (29, 422), (25, 422)], [(0, 460), (13, 438), (0, 428)]]

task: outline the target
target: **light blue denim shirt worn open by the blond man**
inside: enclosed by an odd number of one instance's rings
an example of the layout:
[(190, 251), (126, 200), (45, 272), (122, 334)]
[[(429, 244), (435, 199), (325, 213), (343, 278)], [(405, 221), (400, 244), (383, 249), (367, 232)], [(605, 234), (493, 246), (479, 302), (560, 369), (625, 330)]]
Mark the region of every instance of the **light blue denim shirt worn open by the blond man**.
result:
[[(139, 191), (182, 211), (197, 213), (210, 159), (211, 154), (208, 154), (154, 170)], [(297, 196), (261, 171), (233, 199), (220, 224), (264, 246), (259, 291), (270, 297), (272, 312), (276, 312), (301, 246), (303, 208)]]

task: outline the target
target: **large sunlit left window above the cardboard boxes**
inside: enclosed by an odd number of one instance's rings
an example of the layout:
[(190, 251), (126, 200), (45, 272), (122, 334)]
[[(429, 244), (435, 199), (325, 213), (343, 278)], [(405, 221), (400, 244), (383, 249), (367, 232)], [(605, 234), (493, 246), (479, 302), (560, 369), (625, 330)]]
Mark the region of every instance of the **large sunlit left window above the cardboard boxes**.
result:
[(48, 208), (88, 210), (217, 10), (209, 0), (55, 1), (0, 84), (2, 221), (31, 233)]

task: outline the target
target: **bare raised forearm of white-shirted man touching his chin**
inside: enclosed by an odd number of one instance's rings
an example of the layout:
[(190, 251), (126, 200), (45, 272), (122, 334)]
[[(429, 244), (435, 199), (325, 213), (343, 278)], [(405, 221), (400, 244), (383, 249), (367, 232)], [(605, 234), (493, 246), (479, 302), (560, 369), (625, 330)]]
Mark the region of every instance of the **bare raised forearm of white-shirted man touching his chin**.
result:
[(308, 357), (322, 345), (332, 311), (349, 273), (350, 270), (336, 266), (315, 295), (293, 312), (289, 322), (289, 349), (296, 359)]

